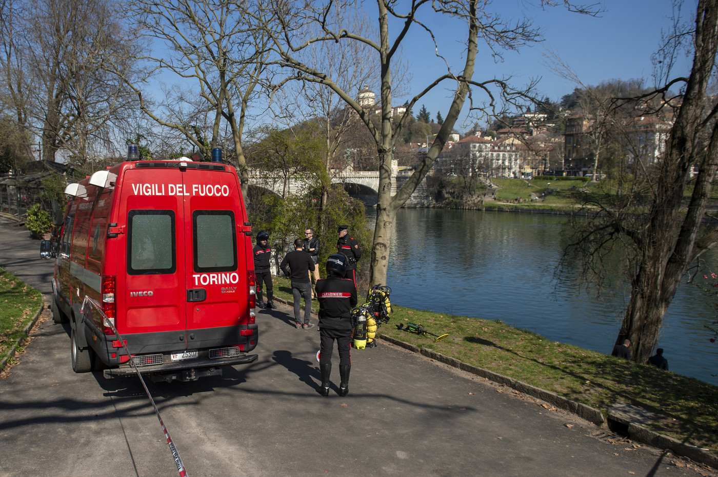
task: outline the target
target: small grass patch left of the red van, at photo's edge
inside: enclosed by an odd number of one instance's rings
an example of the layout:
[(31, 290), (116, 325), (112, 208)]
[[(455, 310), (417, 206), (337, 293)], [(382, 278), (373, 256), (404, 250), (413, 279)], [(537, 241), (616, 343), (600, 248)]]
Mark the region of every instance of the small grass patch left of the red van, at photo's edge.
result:
[(41, 304), (39, 291), (0, 268), (0, 361), (25, 337), (22, 330)]

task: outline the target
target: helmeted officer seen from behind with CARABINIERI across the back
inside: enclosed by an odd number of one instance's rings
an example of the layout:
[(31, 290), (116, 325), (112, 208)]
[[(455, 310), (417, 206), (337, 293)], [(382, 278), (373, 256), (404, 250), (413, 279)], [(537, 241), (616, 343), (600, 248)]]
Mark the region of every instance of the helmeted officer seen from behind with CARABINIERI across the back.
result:
[(327, 278), (317, 280), (319, 301), (320, 361), (322, 384), (317, 392), (329, 395), (332, 372), (332, 351), (337, 340), (339, 351), (339, 395), (349, 394), (349, 372), (352, 367), (350, 346), (352, 342), (351, 311), (357, 304), (357, 289), (351, 280), (344, 278), (347, 258), (340, 253), (327, 258)]

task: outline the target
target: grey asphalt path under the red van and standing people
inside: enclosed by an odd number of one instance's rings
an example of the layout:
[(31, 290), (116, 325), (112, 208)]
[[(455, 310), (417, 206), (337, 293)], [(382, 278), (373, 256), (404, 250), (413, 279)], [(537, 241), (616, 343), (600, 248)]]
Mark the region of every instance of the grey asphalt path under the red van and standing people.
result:
[[(49, 299), (52, 260), (1, 218), (0, 266)], [(659, 450), (383, 342), (353, 351), (347, 397), (336, 384), (321, 397), (319, 334), (295, 329), (291, 315), (284, 304), (258, 313), (251, 365), (197, 382), (148, 383), (188, 475), (700, 475)], [(73, 373), (68, 331), (41, 321), (0, 379), (0, 476), (177, 476), (139, 380)], [(335, 383), (338, 374), (335, 364)]]

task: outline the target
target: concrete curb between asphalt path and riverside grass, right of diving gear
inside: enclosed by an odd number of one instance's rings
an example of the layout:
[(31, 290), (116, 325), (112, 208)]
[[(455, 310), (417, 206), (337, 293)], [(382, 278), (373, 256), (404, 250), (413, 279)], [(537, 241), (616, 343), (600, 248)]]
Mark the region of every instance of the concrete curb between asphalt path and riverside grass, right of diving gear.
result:
[[(488, 369), (482, 369), (479, 367), (472, 366), (470, 364), (466, 364), (464, 362), (460, 362), (458, 359), (449, 358), (448, 356), (444, 356), (441, 353), (437, 353), (429, 349), (419, 348), (412, 344), (405, 343), (404, 341), (399, 341), (398, 339), (393, 339), (391, 338), (391, 336), (377, 337), (383, 339), (384, 341), (388, 341), (391, 344), (396, 344), (396, 346), (401, 346), (404, 349), (413, 351), (414, 353), (423, 354), (427, 358), (431, 358), (438, 362), (448, 364), (451, 367), (461, 369), (465, 372), (470, 372), (471, 374), (476, 374), (477, 376), (486, 379), (490, 379), (491, 381), (498, 384), (504, 384), (511, 389), (516, 389), (516, 391), (521, 392), (522, 394), (536, 397), (537, 399), (549, 402), (549, 404), (554, 405), (559, 409), (571, 412), (572, 414), (575, 414), (589, 422), (593, 422), (595, 425), (598, 425), (600, 427), (604, 427), (607, 425), (607, 421), (603, 413), (600, 410), (597, 410), (595, 407), (581, 404), (580, 402), (570, 400), (567, 397), (561, 397), (553, 392), (549, 392), (545, 389), (531, 386), (531, 384), (526, 384), (525, 382), (517, 381), (516, 379), (504, 376), (503, 374), (498, 374), (495, 372), (491, 372)], [(710, 453), (707, 450), (697, 448), (694, 445), (681, 443), (681, 441), (668, 437), (668, 435), (658, 434), (633, 422), (628, 422), (625, 420), (622, 421), (619, 417), (616, 417), (612, 413), (609, 414), (609, 417), (611, 420), (616, 420), (617, 422), (622, 422), (623, 424), (628, 425), (628, 438), (630, 438), (631, 440), (651, 445), (655, 448), (671, 450), (671, 452), (675, 453), (676, 455), (687, 457), (692, 461), (711, 466), (712, 468), (718, 468), (718, 456), (714, 455), (713, 453)]]

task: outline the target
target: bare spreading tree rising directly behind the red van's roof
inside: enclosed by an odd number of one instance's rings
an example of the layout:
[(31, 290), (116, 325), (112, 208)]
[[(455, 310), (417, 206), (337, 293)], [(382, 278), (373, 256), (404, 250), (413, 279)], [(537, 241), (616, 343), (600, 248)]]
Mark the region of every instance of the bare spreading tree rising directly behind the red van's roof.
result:
[(242, 135), (266, 57), (263, 33), (245, 22), (247, 8), (231, 0), (131, 1), (134, 24), (162, 50), (138, 59), (193, 89), (168, 88), (155, 108), (138, 82), (126, 80), (139, 94), (144, 113), (179, 131), (205, 157), (220, 143), (223, 126), (228, 128), (244, 194), (248, 171)]

